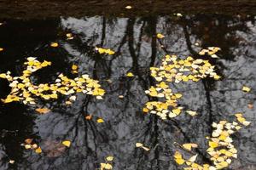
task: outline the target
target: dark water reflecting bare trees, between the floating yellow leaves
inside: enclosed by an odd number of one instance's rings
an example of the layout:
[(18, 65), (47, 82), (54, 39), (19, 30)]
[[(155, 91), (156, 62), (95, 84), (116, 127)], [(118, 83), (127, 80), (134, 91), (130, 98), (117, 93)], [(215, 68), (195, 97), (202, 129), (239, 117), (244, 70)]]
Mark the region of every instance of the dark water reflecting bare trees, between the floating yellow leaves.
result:
[[(103, 100), (78, 94), (73, 105), (63, 97), (40, 100), (38, 105), (0, 103), (0, 169), (93, 170), (106, 156), (113, 156), (115, 170), (175, 170), (172, 156), (178, 142), (199, 144), (199, 162), (207, 157), (207, 140), (212, 122), (231, 120), (243, 112), (250, 126), (233, 136), (239, 151), (228, 169), (256, 169), (256, 18), (255, 16), (190, 15), (143, 18), (59, 18), (55, 20), (0, 20), (0, 73), (11, 71), (18, 76), (27, 57), (47, 59), (53, 64), (32, 75), (35, 83), (54, 82), (60, 72), (71, 76), (71, 65), (79, 65), (79, 74), (88, 73), (100, 80), (107, 92)], [(72, 32), (73, 40), (66, 34)], [(158, 40), (156, 33), (166, 37)], [(51, 48), (50, 42), (59, 42)], [(195, 43), (199, 43), (196, 46)], [(161, 47), (164, 46), (164, 48)], [(111, 48), (114, 55), (100, 55), (95, 47)], [(172, 89), (183, 93), (179, 102), (199, 113), (181, 115), (175, 122), (143, 114), (148, 101), (144, 93), (154, 85), (149, 67), (160, 65), (165, 54), (196, 56), (201, 48), (216, 46), (220, 59), (219, 81), (180, 82)], [(125, 77), (127, 72), (135, 77)], [(241, 87), (252, 91), (245, 94)], [(0, 95), (9, 93), (8, 82), (0, 80)], [(119, 99), (123, 95), (123, 99)], [(51, 112), (39, 115), (35, 109), (48, 107)], [(93, 115), (91, 121), (84, 115)], [(96, 116), (104, 123), (97, 123)], [(26, 150), (20, 144), (32, 138), (43, 153)], [(69, 149), (58, 150), (58, 142), (71, 140)], [(136, 148), (141, 142), (151, 148)], [(44, 151), (51, 145), (52, 149)], [(9, 160), (15, 160), (9, 164)]]

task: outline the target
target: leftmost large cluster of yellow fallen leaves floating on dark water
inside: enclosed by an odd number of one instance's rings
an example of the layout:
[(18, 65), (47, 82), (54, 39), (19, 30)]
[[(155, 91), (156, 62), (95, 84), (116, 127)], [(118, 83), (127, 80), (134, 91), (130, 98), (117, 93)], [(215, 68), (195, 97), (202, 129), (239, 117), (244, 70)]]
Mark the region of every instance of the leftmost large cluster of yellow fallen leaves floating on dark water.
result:
[[(22, 100), (24, 104), (36, 104), (33, 96), (41, 97), (42, 99), (57, 99), (58, 94), (70, 95), (76, 93), (95, 95), (96, 99), (102, 99), (102, 95), (105, 91), (98, 84), (98, 81), (91, 79), (88, 75), (82, 75), (82, 77), (75, 77), (69, 79), (63, 74), (60, 74), (53, 84), (39, 84), (34, 85), (30, 80), (30, 76), (33, 72), (38, 71), (48, 65), (51, 65), (49, 61), (41, 63), (36, 58), (27, 58), (25, 62), (26, 70), (23, 71), (23, 75), (20, 77), (11, 77), (10, 72), (1, 74), (1, 78), (5, 78), (9, 81), (9, 87), (11, 92), (6, 99), (3, 99), (4, 103), (10, 103), (13, 101)], [(75, 100), (75, 96), (71, 96), (70, 100)]]

